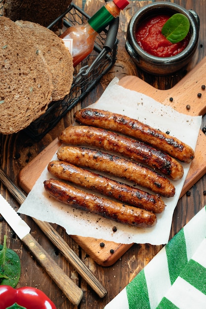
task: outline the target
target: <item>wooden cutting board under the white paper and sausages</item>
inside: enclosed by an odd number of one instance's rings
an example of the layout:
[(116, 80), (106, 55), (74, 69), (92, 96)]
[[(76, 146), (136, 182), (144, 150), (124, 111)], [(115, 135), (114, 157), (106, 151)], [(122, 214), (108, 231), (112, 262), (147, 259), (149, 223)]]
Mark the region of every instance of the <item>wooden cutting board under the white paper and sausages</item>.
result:
[[(173, 107), (180, 113), (191, 116), (200, 116), (206, 113), (206, 58), (204, 58), (190, 73), (169, 90), (158, 90), (142, 79), (127, 76), (119, 81), (119, 84), (127, 89), (144, 93), (153, 99)], [(201, 97), (198, 96), (201, 93)], [(171, 101), (170, 98), (173, 98)], [(190, 106), (190, 109), (187, 108)], [(36, 180), (40, 177), (42, 170), (48, 164), (53, 154), (60, 147), (58, 140), (54, 140), (37, 157), (22, 169), (19, 174), (19, 185), (29, 193)], [(38, 169), (37, 169), (38, 166)], [(200, 131), (198, 143), (195, 150), (195, 159), (191, 164), (181, 196), (186, 193), (206, 173), (206, 136)], [(180, 197), (181, 197), (180, 196)], [(71, 237), (89, 254), (93, 260), (102, 266), (113, 265), (132, 244), (120, 244), (103, 239), (89, 238), (71, 235)], [(105, 246), (100, 247), (100, 242)], [(110, 250), (114, 252), (111, 253)]]

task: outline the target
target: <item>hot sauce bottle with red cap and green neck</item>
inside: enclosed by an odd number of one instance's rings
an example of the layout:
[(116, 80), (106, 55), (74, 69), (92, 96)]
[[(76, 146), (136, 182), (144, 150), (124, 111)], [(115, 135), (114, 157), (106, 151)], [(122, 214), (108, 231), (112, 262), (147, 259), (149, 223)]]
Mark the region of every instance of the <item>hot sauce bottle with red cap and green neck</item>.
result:
[(60, 36), (62, 39), (73, 39), (72, 56), (74, 67), (91, 53), (96, 36), (105, 29), (114, 18), (118, 17), (121, 10), (128, 4), (128, 0), (109, 1), (85, 24), (69, 27)]

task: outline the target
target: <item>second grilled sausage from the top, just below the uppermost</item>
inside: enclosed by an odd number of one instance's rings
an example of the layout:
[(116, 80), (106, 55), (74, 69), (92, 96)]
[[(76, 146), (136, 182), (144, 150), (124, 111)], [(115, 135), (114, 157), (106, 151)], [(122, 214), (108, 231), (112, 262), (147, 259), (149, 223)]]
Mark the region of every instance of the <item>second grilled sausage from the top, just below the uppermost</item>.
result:
[(89, 145), (116, 152), (179, 180), (184, 174), (182, 165), (160, 150), (115, 132), (91, 126), (69, 126), (59, 135), (59, 141), (71, 145)]

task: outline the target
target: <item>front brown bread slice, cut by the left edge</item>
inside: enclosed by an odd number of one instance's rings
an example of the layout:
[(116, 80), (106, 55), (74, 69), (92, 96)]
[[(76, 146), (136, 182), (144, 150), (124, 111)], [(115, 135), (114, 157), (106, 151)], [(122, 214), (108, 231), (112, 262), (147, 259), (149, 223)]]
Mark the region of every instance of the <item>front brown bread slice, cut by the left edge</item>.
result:
[(44, 114), (52, 90), (41, 52), (13, 21), (0, 17), (0, 133), (16, 133)]

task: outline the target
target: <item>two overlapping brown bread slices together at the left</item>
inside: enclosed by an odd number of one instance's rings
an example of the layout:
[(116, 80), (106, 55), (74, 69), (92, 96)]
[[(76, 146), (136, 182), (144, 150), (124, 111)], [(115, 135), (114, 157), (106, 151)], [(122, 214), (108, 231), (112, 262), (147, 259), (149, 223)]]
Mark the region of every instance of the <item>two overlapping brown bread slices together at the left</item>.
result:
[(26, 128), (63, 99), (73, 81), (72, 56), (51, 30), (0, 17), (0, 133)]

